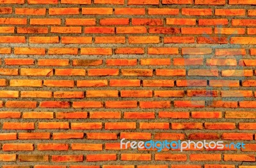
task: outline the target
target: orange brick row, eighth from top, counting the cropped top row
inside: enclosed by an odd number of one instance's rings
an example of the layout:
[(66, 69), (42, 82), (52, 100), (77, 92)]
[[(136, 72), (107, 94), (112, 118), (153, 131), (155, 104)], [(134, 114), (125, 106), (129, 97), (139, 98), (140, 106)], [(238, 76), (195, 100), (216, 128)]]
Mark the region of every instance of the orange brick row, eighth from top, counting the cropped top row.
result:
[[(88, 60), (86, 60), (87, 62)], [(249, 60), (250, 61), (250, 60)], [(99, 60), (89, 60), (89, 64), (98, 64), (101, 62)], [(253, 61), (254, 62), (254, 61)], [(256, 63), (256, 60), (255, 60)], [(101, 64), (101, 63), (100, 63)], [(252, 62), (250, 62), (251, 66)], [(256, 65), (256, 64), (255, 64)], [(255, 66), (254, 65), (254, 66)], [(20, 69), (6, 69), (0, 68), (0, 75), (2, 76), (53, 76), (54, 69), (33, 69), (33, 68), (20, 68)], [(84, 70), (84, 69), (82, 69)], [(58, 69), (55, 69), (58, 72)], [(60, 69), (60, 72), (63, 70)], [(65, 70), (64, 70), (65, 71)], [(218, 70), (216, 68), (213, 69), (88, 69), (88, 76), (119, 76), (120, 71), (122, 76), (154, 76), (154, 72), (156, 76), (223, 76), (223, 77), (236, 77), (236, 76), (244, 76), (250, 77), (254, 76), (256, 70), (241, 70), (241, 69), (223, 69)], [(61, 73), (60, 73), (61, 74)], [(44, 84), (49, 80), (44, 80)], [(50, 81), (52, 83), (52, 81)], [(73, 84), (71, 84), (73, 83)], [(51, 84), (50, 84), (51, 85)], [(65, 84), (63, 84), (65, 85)], [(74, 85), (74, 81), (67, 81), (67, 85)]]

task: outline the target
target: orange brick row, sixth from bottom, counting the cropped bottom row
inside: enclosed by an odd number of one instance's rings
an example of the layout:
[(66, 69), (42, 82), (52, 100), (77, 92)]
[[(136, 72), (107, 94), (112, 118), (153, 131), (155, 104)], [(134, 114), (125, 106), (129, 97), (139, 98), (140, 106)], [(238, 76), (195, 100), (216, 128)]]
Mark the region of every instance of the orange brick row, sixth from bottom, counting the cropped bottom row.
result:
[[(172, 118), (189, 119), (191, 118), (222, 118), (221, 111), (159, 111), (149, 112), (124, 112), (125, 119), (154, 119), (154, 118)], [(225, 111), (225, 118), (256, 118), (255, 111)], [(24, 118), (24, 119), (120, 119), (120, 111), (86, 111), (83, 112), (19, 112), (19, 111), (0, 111), (0, 118)], [(218, 125), (218, 123), (216, 123)], [(221, 125), (221, 123), (220, 123)], [(234, 124), (233, 124), (234, 125)], [(250, 124), (248, 124), (250, 125)], [(253, 124), (252, 124), (253, 125)], [(249, 128), (249, 127), (248, 127)]]

